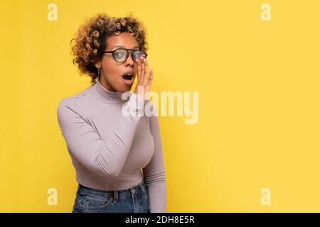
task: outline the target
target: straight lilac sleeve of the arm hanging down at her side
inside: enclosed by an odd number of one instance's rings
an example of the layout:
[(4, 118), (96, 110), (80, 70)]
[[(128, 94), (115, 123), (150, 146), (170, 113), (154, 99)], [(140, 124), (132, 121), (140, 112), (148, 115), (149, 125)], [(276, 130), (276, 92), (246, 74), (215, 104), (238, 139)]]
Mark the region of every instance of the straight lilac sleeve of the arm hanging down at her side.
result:
[(158, 117), (150, 116), (149, 125), (151, 135), (154, 138), (154, 155), (143, 171), (149, 189), (150, 212), (166, 213), (166, 180)]

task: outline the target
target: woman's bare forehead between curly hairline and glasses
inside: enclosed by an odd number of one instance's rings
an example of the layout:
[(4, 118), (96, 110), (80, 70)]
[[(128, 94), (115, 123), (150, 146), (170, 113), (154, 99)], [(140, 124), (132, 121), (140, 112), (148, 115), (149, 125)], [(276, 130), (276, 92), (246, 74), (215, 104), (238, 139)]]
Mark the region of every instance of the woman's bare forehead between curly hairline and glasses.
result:
[(127, 32), (121, 33), (120, 35), (112, 35), (107, 38), (108, 49), (111, 50), (115, 45), (128, 49), (139, 48), (137, 40)]

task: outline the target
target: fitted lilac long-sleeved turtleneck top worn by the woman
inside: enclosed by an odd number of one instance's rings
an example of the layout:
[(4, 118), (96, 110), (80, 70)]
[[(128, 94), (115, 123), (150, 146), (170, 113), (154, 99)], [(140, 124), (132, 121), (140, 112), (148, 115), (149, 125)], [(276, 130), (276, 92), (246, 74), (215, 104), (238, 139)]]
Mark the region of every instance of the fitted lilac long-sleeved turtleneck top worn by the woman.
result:
[(141, 114), (151, 101), (128, 93), (127, 100), (122, 100), (121, 92), (111, 92), (97, 80), (59, 102), (58, 123), (79, 184), (114, 191), (129, 189), (144, 179), (150, 212), (164, 213), (166, 181), (159, 120), (156, 114)]

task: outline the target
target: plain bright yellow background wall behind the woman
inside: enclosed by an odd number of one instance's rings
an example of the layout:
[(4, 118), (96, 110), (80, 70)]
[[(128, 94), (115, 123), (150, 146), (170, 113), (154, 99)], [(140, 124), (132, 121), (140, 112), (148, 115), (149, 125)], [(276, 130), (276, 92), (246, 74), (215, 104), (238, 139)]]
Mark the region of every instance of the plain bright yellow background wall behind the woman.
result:
[[(265, 2), (271, 21), (260, 19)], [(50, 3), (58, 21), (47, 20)], [(90, 85), (72, 65), (70, 39), (102, 11), (132, 11), (148, 28), (152, 90), (199, 92), (198, 124), (159, 117), (168, 212), (320, 211), (320, 1), (0, 6), (0, 211), (72, 210), (75, 171), (56, 108)], [(260, 204), (265, 187), (271, 206)]]

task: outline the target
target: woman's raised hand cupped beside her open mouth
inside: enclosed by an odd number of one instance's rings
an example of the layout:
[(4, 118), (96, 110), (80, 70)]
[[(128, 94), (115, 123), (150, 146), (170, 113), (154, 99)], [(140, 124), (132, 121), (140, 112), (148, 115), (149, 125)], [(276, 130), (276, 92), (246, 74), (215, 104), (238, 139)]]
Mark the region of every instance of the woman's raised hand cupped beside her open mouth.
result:
[[(151, 88), (151, 83), (153, 80), (154, 76), (154, 71), (150, 69), (149, 72), (149, 65), (148, 65), (148, 60), (144, 57), (140, 57), (137, 60), (137, 65), (138, 65), (138, 72), (137, 72), (137, 85), (134, 89), (134, 93), (139, 94), (145, 98), (146, 93), (150, 91)], [(139, 86), (141, 88), (139, 89)]]

